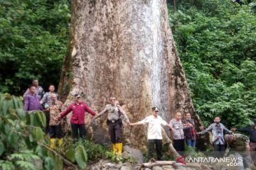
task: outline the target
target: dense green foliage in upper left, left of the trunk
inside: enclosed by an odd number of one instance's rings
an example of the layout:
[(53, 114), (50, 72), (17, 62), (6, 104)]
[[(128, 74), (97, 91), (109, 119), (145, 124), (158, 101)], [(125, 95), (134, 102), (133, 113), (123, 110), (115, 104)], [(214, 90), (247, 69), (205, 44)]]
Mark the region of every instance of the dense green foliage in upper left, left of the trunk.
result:
[(0, 92), (22, 94), (31, 79), (58, 84), (68, 45), (70, 1), (0, 1)]

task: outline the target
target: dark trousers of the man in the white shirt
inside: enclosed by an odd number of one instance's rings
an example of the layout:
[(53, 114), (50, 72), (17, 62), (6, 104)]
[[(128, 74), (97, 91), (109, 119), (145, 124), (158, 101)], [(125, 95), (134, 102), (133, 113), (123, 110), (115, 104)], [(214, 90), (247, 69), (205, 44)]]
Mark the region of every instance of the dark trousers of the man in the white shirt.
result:
[(156, 145), (157, 160), (162, 157), (162, 140), (148, 140), (149, 152), (148, 159), (154, 158), (154, 146)]

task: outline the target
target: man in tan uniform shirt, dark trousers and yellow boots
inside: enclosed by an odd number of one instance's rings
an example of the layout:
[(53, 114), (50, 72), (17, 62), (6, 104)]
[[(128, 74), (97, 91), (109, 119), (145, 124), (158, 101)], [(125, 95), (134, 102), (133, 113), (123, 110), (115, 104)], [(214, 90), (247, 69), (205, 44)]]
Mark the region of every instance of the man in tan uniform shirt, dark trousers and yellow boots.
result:
[(121, 137), (121, 127), (122, 119), (121, 115), (124, 116), (124, 119), (130, 125), (129, 118), (125, 114), (121, 106), (117, 105), (114, 97), (110, 97), (110, 104), (107, 105), (103, 111), (101, 111), (96, 118), (100, 117), (104, 113), (107, 113), (107, 125), (110, 134), (110, 140), (113, 144), (114, 153), (122, 154), (122, 137)]

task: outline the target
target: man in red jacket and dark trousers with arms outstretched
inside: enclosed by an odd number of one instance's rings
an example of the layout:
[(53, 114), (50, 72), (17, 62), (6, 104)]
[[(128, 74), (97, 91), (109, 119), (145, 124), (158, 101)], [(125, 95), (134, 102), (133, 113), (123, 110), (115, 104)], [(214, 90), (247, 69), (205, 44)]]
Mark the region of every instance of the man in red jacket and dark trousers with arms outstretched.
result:
[(95, 116), (96, 113), (92, 111), (84, 102), (80, 101), (80, 94), (75, 94), (75, 102), (72, 103), (68, 108), (61, 112), (57, 118), (60, 119), (68, 115), (71, 111), (73, 112), (70, 123), (72, 128), (73, 139), (76, 141), (78, 140), (78, 130), (80, 137), (85, 138), (86, 131), (85, 131), (85, 111), (90, 113), (91, 115)]

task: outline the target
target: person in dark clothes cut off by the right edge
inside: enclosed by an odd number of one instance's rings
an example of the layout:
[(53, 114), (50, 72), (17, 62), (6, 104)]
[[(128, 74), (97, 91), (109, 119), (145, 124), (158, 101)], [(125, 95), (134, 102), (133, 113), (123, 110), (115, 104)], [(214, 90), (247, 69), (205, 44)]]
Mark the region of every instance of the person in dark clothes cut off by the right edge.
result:
[(256, 119), (254, 124), (247, 126), (245, 128), (238, 129), (239, 132), (249, 132), (250, 133), (250, 155), (253, 164), (256, 166)]

